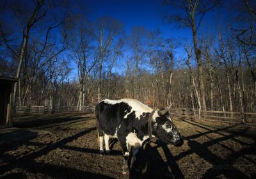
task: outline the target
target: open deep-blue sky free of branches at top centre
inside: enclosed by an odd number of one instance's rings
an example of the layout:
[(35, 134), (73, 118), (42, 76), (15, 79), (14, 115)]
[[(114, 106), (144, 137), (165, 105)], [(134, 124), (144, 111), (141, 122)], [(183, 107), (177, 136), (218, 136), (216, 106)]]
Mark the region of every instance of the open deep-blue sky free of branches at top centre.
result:
[(129, 33), (133, 26), (143, 26), (149, 30), (154, 30), (158, 27), (164, 36), (189, 36), (188, 29), (173, 29), (172, 26), (164, 22), (161, 0), (86, 0), (86, 6), (88, 6), (89, 10), (88, 15), (93, 19), (102, 15), (109, 15), (115, 17), (115, 19), (122, 20), (125, 24), (126, 33)]

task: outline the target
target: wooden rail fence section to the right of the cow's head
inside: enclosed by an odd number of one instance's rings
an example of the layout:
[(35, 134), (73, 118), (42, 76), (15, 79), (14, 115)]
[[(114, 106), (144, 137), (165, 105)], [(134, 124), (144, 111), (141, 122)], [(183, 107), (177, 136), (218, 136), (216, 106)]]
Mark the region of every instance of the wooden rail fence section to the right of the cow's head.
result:
[(248, 123), (256, 124), (256, 113), (223, 112), (223, 111), (202, 111), (192, 109), (170, 109), (170, 115), (188, 120), (208, 120), (223, 123)]

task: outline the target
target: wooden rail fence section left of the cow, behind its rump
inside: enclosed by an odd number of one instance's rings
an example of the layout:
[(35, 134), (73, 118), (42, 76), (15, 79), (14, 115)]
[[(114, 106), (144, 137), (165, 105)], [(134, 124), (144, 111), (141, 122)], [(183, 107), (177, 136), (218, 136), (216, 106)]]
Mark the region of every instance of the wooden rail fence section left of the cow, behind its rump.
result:
[(93, 105), (86, 106), (61, 106), (61, 107), (47, 107), (44, 105), (36, 106), (16, 106), (15, 114), (35, 114), (35, 113), (93, 113), (95, 107)]

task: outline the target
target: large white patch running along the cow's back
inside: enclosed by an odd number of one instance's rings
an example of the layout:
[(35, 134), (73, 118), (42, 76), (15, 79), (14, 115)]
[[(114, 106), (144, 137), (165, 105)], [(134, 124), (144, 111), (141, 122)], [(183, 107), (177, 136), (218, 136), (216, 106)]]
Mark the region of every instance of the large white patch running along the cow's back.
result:
[(108, 104), (118, 104), (118, 103), (121, 103), (121, 102), (125, 102), (126, 104), (128, 104), (131, 107), (131, 112), (125, 114), (124, 118), (127, 118), (127, 116), (134, 111), (135, 112), (135, 117), (140, 119), (140, 116), (143, 115), (143, 113), (151, 113), (153, 111), (153, 109), (148, 107), (148, 105), (145, 105), (145, 104), (143, 104), (140, 101), (135, 100), (135, 99), (130, 99), (130, 98), (124, 98), (124, 99), (121, 99), (121, 100), (105, 99), (103, 101), (108, 103)]

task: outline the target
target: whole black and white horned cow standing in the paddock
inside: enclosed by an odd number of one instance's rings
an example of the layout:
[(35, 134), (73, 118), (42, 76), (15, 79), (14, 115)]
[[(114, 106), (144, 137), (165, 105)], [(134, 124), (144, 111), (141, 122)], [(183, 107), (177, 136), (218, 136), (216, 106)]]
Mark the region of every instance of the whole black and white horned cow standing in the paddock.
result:
[(169, 117), (169, 109), (170, 106), (154, 111), (148, 105), (129, 98), (102, 100), (95, 108), (100, 153), (104, 153), (103, 137), (106, 153), (109, 153), (109, 137), (117, 138), (124, 155), (125, 174), (128, 171), (127, 160), (130, 155), (128, 145), (132, 147), (134, 160), (143, 142), (151, 136), (164, 143), (181, 146), (183, 139)]

